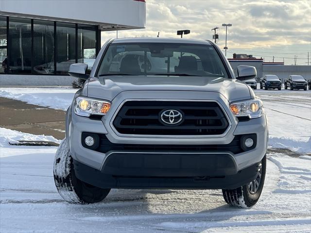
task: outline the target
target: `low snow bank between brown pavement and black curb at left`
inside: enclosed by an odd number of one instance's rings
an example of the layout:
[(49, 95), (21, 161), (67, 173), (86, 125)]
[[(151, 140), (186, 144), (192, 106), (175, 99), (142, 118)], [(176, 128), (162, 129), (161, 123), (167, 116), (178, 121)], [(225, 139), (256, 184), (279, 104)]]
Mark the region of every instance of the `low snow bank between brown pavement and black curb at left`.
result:
[[(56, 142), (56, 143), (61, 142), (61, 140), (57, 140), (53, 136), (34, 135), (30, 133), (21, 133), (15, 130), (0, 128), (0, 148), (8, 148), (10, 147), (9, 143), (17, 143), (18, 140), (50, 141), (50, 142)], [(0, 151), (0, 157), (1, 157), (1, 151)]]

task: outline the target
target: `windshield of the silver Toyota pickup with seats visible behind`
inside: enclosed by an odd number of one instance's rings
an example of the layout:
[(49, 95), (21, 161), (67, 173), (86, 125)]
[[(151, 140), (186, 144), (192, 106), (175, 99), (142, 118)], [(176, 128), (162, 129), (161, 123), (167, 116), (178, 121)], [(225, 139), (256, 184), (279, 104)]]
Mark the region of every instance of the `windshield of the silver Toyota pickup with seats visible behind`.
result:
[(228, 78), (225, 66), (211, 45), (173, 43), (111, 44), (98, 76), (180, 75)]

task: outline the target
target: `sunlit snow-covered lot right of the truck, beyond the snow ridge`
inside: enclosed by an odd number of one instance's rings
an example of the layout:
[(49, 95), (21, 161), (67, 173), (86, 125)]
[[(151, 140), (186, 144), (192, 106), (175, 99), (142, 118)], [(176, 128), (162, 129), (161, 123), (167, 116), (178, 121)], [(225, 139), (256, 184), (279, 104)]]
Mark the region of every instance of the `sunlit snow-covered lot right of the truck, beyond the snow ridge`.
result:
[(269, 145), (311, 152), (311, 91), (255, 90), (269, 121)]

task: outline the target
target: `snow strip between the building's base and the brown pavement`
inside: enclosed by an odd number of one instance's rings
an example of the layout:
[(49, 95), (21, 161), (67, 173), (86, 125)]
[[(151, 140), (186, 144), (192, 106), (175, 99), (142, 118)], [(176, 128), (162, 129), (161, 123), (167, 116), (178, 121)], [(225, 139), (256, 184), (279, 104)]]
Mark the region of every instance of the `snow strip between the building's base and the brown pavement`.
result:
[(66, 111), (76, 92), (77, 89), (59, 87), (1, 87), (0, 97)]

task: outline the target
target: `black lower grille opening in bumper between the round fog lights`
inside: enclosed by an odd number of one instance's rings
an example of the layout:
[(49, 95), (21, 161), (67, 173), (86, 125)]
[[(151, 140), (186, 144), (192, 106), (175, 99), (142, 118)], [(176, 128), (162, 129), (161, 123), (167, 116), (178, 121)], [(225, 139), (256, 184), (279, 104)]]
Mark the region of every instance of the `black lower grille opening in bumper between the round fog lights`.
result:
[[(85, 133), (83, 133), (85, 134)], [(86, 133), (86, 135), (88, 135)], [(158, 144), (117, 144), (110, 142), (105, 134), (98, 134), (100, 137), (98, 152), (107, 153), (115, 150), (122, 151), (139, 151), (139, 152), (211, 152), (211, 151), (230, 151), (234, 154), (243, 152), (240, 139), (242, 135), (236, 135), (232, 142), (225, 145), (158, 145)], [(85, 138), (85, 137), (82, 137)]]

